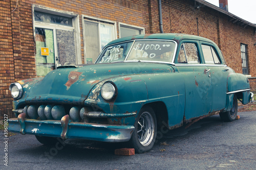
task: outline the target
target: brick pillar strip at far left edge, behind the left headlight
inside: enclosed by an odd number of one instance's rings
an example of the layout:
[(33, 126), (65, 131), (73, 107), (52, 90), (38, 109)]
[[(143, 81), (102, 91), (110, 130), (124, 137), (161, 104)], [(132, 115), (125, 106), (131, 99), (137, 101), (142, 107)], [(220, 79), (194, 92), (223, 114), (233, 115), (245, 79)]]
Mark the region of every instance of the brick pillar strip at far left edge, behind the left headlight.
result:
[(14, 79), (10, 1), (0, 1), (0, 113), (11, 115), (9, 84)]

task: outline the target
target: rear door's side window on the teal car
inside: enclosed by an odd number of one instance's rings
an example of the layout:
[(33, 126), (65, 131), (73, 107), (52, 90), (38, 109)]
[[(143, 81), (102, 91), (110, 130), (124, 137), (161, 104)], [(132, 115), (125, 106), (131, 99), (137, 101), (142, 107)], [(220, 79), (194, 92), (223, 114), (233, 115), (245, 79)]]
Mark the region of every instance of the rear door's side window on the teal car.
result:
[(203, 45), (202, 50), (206, 64), (221, 64), (214, 48), (210, 45)]

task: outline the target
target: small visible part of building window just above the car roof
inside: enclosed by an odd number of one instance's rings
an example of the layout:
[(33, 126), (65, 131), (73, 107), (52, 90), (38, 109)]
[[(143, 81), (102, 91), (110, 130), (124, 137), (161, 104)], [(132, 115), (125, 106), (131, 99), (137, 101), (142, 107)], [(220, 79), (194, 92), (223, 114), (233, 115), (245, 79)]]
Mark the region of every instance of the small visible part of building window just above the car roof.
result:
[(127, 25), (125, 23), (119, 23), (119, 38), (139, 34), (145, 34), (145, 29), (142, 27)]

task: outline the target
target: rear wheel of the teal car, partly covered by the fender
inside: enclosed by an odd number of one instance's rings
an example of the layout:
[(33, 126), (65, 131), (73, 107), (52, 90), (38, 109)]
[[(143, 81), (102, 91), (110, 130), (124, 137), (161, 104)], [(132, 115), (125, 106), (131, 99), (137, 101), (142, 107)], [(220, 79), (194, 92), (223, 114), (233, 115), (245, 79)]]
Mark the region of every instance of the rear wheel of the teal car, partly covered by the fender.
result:
[(237, 114), (238, 114), (238, 99), (237, 99), (237, 95), (234, 94), (232, 109), (230, 111), (220, 113), (220, 117), (225, 122), (231, 122), (234, 119), (236, 119)]

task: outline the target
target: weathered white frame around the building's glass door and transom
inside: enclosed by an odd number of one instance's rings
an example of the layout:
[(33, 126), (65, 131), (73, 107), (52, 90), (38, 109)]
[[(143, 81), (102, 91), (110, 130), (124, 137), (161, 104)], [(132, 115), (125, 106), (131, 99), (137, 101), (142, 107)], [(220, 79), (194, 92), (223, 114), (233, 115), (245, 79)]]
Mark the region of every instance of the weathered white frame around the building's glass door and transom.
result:
[[(54, 23), (45, 23), (45, 22), (39, 22), (35, 21), (34, 18), (34, 11), (39, 12), (45, 12), (49, 14), (59, 15), (59, 16), (65, 16), (72, 18), (73, 27), (68, 26), (61, 26)], [(32, 20), (33, 20), (33, 33), (34, 33), (34, 39), (35, 39), (35, 28), (44, 28), (44, 29), (52, 29), (53, 30), (53, 39), (54, 39), (54, 56), (55, 59), (58, 58), (58, 51), (57, 51), (57, 41), (56, 41), (56, 29), (58, 30), (74, 30), (75, 32), (75, 48), (76, 48), (76, 64), (82, 64), (81, 61), (81, 38), (80, 38), (80, 26), (79, 26), (79, 15), (75, 14), (73, 12), (67, 12), (67, 11), (61, 11), (56, 10), (40, 5), (32, 5)], [(55, 64), (56, 67), (58, 64)]]

